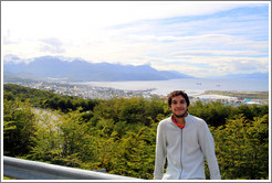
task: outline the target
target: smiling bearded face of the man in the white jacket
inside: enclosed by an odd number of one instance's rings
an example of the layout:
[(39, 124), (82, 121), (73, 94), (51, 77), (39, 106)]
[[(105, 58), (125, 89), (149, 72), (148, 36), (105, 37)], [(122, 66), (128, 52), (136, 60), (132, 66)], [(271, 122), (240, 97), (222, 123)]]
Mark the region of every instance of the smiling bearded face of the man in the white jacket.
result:
[(187, 103), (186, 103), (186, 99), (181, 95), (172, 97), (171, 106), (169, 107), (170, 107), (171, 112), (177, 118), (182, 118), (187, 115), (187, 109), (188, 109)]

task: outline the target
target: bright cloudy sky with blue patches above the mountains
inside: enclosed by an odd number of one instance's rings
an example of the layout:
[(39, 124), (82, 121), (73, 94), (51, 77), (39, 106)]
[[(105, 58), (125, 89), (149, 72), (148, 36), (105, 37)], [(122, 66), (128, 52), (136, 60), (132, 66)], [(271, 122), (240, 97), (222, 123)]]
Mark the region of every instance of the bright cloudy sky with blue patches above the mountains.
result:
[(1, 1), (1, 53), (150, 65), (196, 77), (268, 73), (270, 1)]

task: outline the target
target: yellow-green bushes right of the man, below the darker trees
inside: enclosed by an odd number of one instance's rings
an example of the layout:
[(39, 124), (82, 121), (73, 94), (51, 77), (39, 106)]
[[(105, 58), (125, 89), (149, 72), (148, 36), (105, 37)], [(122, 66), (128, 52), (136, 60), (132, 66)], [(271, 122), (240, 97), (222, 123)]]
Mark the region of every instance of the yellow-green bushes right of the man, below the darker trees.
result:
[(213, 131), (217, 158), (224, 179), (266, 179), (269, 174), (269, 116), (248, 120), (243, 115)]

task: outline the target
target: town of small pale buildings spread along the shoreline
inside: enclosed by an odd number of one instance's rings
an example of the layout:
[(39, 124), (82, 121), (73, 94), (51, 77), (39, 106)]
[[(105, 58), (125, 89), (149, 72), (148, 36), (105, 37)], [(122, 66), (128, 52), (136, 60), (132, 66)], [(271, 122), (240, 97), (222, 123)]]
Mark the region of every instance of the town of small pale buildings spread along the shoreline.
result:
[[(14, 82), (14, 84), (27, 86), (30, 88), (36, 88), (41, 90), (53, 92), (59, 95), (77, 96), (82, 98), (91, 99), (112, 99), (112, 98), (130, 98), (130, 97), (144, 97), (153, 98), (158, 96), (151, 94), (155, 89), (144, 89), (144, 90), (123, 90), (111, 87), (98, 87), (91, 85), (71, 85), (64, 83), (52, 83), (52, 82)], [(167, 99), (165, 96), (161, 98)], [(224, 105), (240, 106), (240, 105), (268, 105), (268, 100), (258, 100), (251, 98), (238, 98), (229, 97), (223, 95), (192, 95), (190, 96), (190, 101), (193, 104), (196, 101), (202, 101), (203, 104), (209, 104), (211, 101), (220, 101)]]

